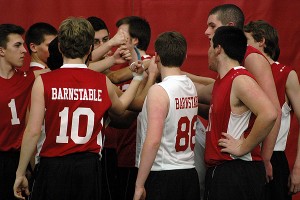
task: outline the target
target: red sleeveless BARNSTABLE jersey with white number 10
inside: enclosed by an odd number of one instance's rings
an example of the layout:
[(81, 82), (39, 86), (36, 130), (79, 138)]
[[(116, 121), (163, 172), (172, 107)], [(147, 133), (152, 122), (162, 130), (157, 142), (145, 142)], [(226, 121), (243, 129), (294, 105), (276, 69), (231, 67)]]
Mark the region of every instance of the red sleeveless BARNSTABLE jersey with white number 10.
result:
[(106, 76), (83, 64), (68, 64), (41, 78), (46, 112), (39, 156), (100, 154), (103, 116), (111, 106)]

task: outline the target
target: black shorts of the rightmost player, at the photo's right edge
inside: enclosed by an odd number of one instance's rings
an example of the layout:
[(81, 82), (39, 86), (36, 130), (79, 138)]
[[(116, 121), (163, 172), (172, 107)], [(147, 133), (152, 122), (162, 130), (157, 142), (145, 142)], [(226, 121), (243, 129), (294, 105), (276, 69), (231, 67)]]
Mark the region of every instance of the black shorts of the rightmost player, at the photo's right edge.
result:
[(266, 200), (292, 200), (288, 188), (290, 169), (284, 151), (274, 151), (271, 164), (273, 180), (266, 184)]

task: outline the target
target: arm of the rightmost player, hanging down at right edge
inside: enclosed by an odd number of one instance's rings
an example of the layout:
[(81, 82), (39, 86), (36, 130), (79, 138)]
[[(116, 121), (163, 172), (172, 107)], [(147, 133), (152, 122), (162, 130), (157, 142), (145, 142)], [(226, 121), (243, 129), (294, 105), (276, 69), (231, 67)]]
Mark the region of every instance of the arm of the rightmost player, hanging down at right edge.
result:
[[(299, 79), (295, 71), (291, 71), (286, 82), (286, 94), (292, 105), (294, 113), (300, 124), (300, 86)], [(300, 191), (300, 127), (298, 131), (297, 154), (294, 166), (291, 170), (289, 188), (291, 193)]]

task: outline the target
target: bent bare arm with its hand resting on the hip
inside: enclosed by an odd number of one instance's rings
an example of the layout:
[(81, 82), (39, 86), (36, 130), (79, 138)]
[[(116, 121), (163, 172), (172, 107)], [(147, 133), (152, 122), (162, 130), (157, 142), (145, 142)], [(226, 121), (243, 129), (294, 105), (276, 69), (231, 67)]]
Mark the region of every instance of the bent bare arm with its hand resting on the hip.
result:
[[(224, 148), (222, 152), (242, 156), (251, 152), (273, 128), (277, 113), (273, 103), (262, 91), (258, 84), (248, 76), (238, 76), (234, 79), (230, 96), (231, 110), (233, 113), (242, 114), (250, 109), (256, 115), (255, 122), (248, 137), (235, 140), (224, 133), (225, 139), (219, 140), (219, 145)], [(232, 143), (231, 143), (232, 142)], [(231, 143), (231, 144), (230, 144)], [(235, 144), (234, 144), (235, 143)]]

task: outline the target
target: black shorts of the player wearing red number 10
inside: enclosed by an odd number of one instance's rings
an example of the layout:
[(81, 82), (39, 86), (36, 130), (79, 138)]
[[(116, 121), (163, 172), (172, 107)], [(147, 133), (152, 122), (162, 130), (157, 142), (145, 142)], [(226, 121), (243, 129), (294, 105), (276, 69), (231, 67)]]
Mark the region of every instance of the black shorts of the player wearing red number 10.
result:
[(32, 200), (101, 199), (101, 164), (95, 153), (41, 158), (35, 168)]

